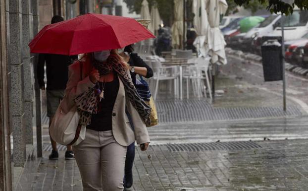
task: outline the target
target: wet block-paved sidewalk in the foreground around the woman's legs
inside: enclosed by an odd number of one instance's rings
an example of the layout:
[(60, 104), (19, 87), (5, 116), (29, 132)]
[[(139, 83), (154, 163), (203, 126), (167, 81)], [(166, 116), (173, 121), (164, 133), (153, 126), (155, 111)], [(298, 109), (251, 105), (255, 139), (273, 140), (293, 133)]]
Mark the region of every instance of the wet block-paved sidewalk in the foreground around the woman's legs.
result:
[[(134, 186), (129, 190), (307, 191), (307, 144), (308, 140), (301, 139), (217, 142), (210, 147), (162, 144), (147, 152), (137, 148)], [(176, 146), (182, 149), (176, 151)], [(45, 157), (36, 178), (33, 191), (82, 191), (75, 161)]]

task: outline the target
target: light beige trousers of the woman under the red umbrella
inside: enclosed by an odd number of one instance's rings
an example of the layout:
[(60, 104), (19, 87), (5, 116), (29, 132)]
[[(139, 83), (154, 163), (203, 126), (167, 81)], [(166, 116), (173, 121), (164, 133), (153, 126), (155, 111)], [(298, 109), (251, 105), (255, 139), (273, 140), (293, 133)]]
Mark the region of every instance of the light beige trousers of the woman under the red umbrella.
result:
[(126, 146), (112, 131), (87, 129), (85, 140), (73, 146), (84, 191), (123, 191)]

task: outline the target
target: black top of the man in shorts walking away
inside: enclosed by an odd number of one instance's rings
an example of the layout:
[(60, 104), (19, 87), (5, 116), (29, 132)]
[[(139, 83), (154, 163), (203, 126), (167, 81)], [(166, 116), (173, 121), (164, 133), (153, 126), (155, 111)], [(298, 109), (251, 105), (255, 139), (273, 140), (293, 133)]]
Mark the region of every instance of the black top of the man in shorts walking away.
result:
[(40, 87), (45, 86), (44, 65), (46, 62), (47, 90), (64, 90), (68, 80), (68, 66), (77, 58), (78, 56), (40, 54), (37, 68)]

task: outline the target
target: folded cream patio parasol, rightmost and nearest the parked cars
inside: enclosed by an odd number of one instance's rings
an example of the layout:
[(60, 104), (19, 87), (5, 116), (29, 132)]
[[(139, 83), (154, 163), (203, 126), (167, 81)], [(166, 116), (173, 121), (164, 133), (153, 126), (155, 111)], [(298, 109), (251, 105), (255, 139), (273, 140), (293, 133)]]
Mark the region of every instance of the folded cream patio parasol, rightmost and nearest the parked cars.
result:
[(207, 33), (208, 54), (211, 63), (227, 64), (225, 45), (226, 42), (219, 29), (220, 15), (225, 14), (228, 8), (226, 0), (206, 0), (209, 29)]

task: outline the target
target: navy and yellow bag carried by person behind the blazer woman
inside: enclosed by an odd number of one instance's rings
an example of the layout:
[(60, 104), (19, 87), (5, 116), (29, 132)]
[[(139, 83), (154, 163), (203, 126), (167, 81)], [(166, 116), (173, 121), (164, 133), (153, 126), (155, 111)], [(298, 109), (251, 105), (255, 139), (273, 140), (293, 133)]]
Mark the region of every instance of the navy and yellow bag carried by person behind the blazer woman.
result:
[(154, 103), (154, 99), (151, 95), (149, 84), (146, 80), (143, 79), (141, 75), (139, 75), (140, 80), (136, 79), (136, 89), (140, 97), (151, 107), (150, 120), (151, 124), (147, 125), (147, 127), (152, 127), (158, 125), (158, 115), (156, 106)]

